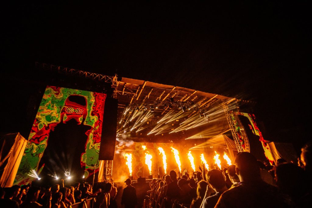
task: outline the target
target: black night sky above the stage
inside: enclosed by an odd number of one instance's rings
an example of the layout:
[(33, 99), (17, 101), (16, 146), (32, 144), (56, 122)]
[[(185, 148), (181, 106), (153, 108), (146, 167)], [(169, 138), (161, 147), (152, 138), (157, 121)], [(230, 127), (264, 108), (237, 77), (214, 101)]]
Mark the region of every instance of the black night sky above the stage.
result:
[(257, 102), (267, 140), (310, 138), (308, 1), (3, 5), (2, 73), (35, 61)]

